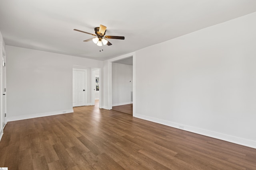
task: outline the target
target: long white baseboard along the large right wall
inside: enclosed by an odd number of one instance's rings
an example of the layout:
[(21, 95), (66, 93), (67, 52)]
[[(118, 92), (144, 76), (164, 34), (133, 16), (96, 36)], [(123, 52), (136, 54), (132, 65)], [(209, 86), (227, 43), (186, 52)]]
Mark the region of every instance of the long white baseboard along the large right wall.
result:
[(135, 114), (133, 116), (137, 117), (137, 118), (140, 118), (140, 119), (152, 121), (152, 122), (155, 122), (155, 123), (160, 123), (162, 125), (182, 129), (182, 130), (185, 130), (185, 131), (197, 133), (197, 134), (208, 136), (208, 137), (213, 137), (213, 138), (220, 139), (220, 140), (223, 140), (223, 141), (228, 141), (228, 142), (231, 142), (231, 143), (236, 143), (238, 145), (244, 145), (246, 147), (251, 147), (251, 148), (256, 149), (256, 141), (252, 141), (252, 140), (248, 140), (248, 139), (244, 139), (244, 138), (240, 138), (240, 137), (235, 137), (235, 136), (230, 136), (230, 135), (226, 135), (226, 134), (222, 134), (222, 133), (217, 133), (217, 132), (213, 132), (213, 131), (208, 131), (208, 130), (205, 130), (205, 129), (200, 129), (198, 127), (191, 127), (191, 126), (187, 126), (187, 125), (182, 125), (182, 124), (174, 123), (174, 122), (171, 122), (171, 121), (157, 119), (157, 118), (154, 118), (154, 117), (148, 117), (148, 116), (145, 116), (145, 115)]

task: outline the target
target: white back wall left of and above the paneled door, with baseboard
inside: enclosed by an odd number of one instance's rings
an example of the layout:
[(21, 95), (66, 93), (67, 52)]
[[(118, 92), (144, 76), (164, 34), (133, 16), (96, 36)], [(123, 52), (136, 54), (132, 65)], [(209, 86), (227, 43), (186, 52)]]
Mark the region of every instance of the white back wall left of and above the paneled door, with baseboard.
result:
[(8, 45), (6, 53), (8, 121), (72, 112), (72, 68), (88, 68), (90, 75), (90, 67), (103, 66), (102, 61)]

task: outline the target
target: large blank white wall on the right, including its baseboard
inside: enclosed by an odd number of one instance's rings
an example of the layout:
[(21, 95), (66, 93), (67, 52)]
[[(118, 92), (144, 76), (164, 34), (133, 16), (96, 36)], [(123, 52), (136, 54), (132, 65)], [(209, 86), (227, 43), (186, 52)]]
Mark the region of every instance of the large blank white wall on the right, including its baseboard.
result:
[(256, 13), (136, 51), (136, 117), (256, 148)]

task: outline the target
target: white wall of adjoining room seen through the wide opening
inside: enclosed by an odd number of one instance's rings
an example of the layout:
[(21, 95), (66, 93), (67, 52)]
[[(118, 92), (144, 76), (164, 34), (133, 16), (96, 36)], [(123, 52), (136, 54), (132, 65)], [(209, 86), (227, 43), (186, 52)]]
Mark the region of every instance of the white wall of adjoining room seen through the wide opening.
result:
[(112, 63), (112, 106), (131, 104), (132, 66)]

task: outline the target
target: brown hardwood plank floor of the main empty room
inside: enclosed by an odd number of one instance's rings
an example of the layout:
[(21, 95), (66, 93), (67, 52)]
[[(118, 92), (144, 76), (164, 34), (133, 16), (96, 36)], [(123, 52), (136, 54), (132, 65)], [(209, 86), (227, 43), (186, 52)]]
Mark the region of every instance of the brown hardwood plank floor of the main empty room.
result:
[(255, 170), (256, 149), (94, 106), (8, 122), (0, 167), (9, 170)]

